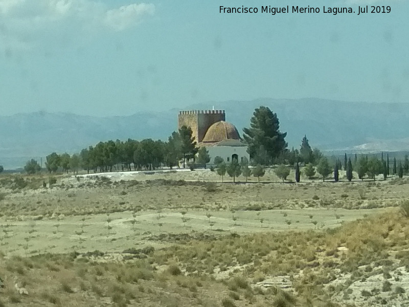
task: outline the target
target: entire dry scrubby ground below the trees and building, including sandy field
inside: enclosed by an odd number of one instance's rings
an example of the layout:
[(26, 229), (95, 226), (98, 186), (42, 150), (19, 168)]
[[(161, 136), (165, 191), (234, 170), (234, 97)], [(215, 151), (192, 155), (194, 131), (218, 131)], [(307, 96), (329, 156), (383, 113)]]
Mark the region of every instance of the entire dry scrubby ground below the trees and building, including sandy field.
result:
[(108, 176), (0, 177), (0, 306), (409, 301), (406, 179)]

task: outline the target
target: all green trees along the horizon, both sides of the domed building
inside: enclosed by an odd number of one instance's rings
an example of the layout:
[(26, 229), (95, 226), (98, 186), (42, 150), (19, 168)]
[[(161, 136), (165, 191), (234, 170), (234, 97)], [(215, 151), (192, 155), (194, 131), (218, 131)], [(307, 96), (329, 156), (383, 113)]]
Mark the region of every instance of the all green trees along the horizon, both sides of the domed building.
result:
[[(359, 179), (363, 179), (365, 175), (375, 179), (375, 176), (382, 173), (387, 178), (390, 174), (389, 155), (387, 159), (382, 157), (379, 160), (376, 157), (360, 156), (359, 159), (355, 154), (353, 161), (344, 157), (344, 164), (339, 159), (329, 161), (324, 157), (323, 153), (318, 148), (311, 148), (307, 136), (304, 135), (300, 149), (288, 149), (285, 141), (286, 133), (280, 131), (280, 122), (277, 114), (271, 112), (266, 106), (260, 106), (255, 109), (250, 120), (250, 126), (243, 129), (243, 140), (247, 144), (247, 152), (249, 153), (250, 161), (246, 161), (244, 165), (239, 165), (237, 161), (232, 161), (229, 165), (224, 165), (222, 161), (216, 161), (217, 169), (225, 168), (224, 174), (230, 172), (237, 174), (239, 168), (241, 173), (245, 173), (243, 167), (250, 163), (253, 165), (252, 170), (256, 168), (256, 176), (260, 178), (265, 167), (271, 165), (279, 165), (276, 173), (279, 178), (285, 180), (289, 174), (289, 169), (296, 170), (296, 181), (300, 179), (300, 165), (304, 164), (305, 176), (313, 178), (315, 173), (319, 173), (323, 180), (334, 173), (334, 180), (338, 181), (339, 170), (346, 170), (347, 179), (352, 180), (352, 171), (358, 173)], [(219, 158), (219, 157), (216, 157)], [(193, 163), (191, 162), (193, 161)], [(197, 146), (192, 130), (190, 127), (183, 126), (178, 131), (174, 131), (167, 141), (145, 139), (142, 141), (128, 139), (123, 142), (120, 140), (99, 142), (95, 146), (89, 146), (82, 149), (79, 153), (74, 153), (70, 156), (68, 153), (57, 154), (50, 153), (46, 157), (46, 169), (51, 172), (56, 172), (58, 169), (62, 171), (78, 172), (79, 169), (89, 171), (103, 172), (112, 170), (154, 170), (161, 166), (173, 167), (189, 167), (193, 168), (194, 163), (204, 165), (210, 162), (209, 153), (206, 147)], [(330, 164), (333, 163), (333, 166)], [(233, 164), (233, 165), (232, 165)], [(230, 166), (231, 165), (231, 166)], [(230, 166), (230, 168), (229, 168)], [(288, 168), (288, 169), (287, 169)], [(34, 173), (40, 170), (37, 161), (30, 160), (25, 166), (28, 173)], [(258, 171), (260, 170), (260, 171)], [(394, 158), (392, 174), (403, 176), (409, 171), (409, 160), (407, 156), (403, 163), (396, 161)], [(288, 174), (287, 174), (288, 172)], [(223, 176), (224, 176), (223, 174)], [(233, 180), (238, 175), (233, 176)]]

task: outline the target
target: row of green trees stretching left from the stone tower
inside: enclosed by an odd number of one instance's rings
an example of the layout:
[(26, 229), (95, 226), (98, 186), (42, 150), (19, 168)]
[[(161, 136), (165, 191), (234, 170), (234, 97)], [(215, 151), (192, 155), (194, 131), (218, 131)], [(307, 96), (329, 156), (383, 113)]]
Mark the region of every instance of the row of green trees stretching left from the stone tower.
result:
[[(112, 170), (154, 170), (162, 165), (170, 168), (180, 167), (179, 161), (196, 160), (197, 163), (206, 164), (210, 161), (205, 147), (198, 147), (192, 137), (192, 129), (182, 126), (169, 136), (168, 141), (144, 139), (142, 141), (128, 139), (99, 142), (95, 146), (82, 149), (79, 153), (50, 153), (46, 157), (45, 167), (50, 173), (61, 169), (65, 172), (78, 172), (79, 169), (94, 172)], [(34, 159), (28, 161), (24, 167), (28, 173), (40, 170), (38, 162)]]

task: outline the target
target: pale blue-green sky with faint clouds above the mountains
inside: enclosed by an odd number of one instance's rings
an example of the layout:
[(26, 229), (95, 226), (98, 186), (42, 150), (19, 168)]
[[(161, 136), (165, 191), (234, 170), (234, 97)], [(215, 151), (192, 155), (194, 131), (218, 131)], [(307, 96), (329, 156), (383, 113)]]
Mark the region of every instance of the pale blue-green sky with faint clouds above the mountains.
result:
[[(0, 0), (2, 115), (116, 116), (257, 98), (409, 101), (407, 1), (147, 1)], [(261, 13), (287, 5), (321, 13)], [(391, 13), (323, 13), (366, 5)]]

